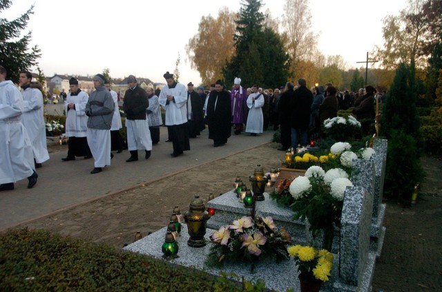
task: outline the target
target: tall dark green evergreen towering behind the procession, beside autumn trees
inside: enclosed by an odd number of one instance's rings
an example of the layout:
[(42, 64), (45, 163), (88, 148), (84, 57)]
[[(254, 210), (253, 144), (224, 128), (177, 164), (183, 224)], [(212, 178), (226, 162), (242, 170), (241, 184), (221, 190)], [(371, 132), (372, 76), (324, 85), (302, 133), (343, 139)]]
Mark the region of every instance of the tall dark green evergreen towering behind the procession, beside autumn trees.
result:
[(257, 83), (261, 87), (285, 84), (289, 76), (289, 56), (279, 34), (265, 28), (261, 0), (242, 0), (236, 21), (236, 54), (223, 70), (226, 86), (239, 76), (244, 86)]

